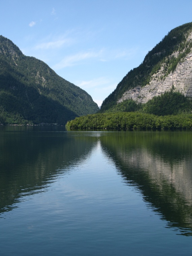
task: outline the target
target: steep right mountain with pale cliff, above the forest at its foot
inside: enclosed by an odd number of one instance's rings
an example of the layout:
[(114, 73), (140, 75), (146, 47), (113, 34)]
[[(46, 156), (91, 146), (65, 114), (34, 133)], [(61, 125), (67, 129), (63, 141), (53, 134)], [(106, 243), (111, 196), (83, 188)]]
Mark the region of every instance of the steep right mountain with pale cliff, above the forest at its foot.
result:
[(130, 109), (129, 105), (159, 99), (165, 92), (192, 97), (192, 22), (171, 30), (130, 70), (103, 101), (100, 112)]

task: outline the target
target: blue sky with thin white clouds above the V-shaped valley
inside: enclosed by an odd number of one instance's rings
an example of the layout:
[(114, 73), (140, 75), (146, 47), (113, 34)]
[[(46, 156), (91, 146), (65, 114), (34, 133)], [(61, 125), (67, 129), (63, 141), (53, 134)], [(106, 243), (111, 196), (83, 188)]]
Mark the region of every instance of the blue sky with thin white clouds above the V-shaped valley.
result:
[(192, 0), (6, 0), (0, 34), (100, 106), (191, 10)]

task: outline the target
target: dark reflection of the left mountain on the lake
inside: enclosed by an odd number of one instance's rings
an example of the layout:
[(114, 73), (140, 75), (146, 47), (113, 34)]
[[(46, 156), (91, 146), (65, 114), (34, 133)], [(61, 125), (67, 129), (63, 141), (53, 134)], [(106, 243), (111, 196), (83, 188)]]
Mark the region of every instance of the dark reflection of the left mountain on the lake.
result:
[[(6, 129), (5, 129), (6, 128)], [(59, 172), (88, 157), (97, 137), (43, 127), (1, 127), (0, 213), (17, 207), (21, 197), (46, 191)]]

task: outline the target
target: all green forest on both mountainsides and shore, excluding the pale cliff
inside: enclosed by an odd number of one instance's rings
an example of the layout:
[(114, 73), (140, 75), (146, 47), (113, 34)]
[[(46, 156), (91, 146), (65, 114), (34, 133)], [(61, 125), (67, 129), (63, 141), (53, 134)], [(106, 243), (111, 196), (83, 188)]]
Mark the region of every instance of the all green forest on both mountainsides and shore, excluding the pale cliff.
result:
[[(23, 55), (9, 39), (0, 36), (0, 124), (65, 125), (74, 129), (191, 129), (192, 101), (170, 91), (145, 104), (133, 99), (117, 104), (124, 92), (149, 84), (163, 68), (163, 79), (191, 51), (187, 40), (192, 23), (171, 30), (130, 70), (102, 103), (101, 109), (81, 88), (57, 75), (44, 62)], [(172, 55), (179, 51), (178, 57)], [(72, 121), (69, 121), (72, 120)]]

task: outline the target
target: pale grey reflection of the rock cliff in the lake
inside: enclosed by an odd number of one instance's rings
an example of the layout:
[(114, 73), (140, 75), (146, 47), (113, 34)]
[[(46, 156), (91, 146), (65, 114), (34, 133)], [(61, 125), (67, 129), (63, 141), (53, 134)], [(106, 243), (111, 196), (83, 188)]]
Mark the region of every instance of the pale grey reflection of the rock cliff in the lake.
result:
[[(151, 184), (155, 184), (161, 193), (165, 192), (165, 187), (174, 187), (175, 193), (184, 198), (188, 205), (192, 206), (192, 173), (191, 159), (180, 159), (178, 162), (169, 163), (159, 155), (137, 149), (126, 154), (119, 151), (118, 157), (127, 165), (134, 166), (145, 172)], [(168, 196), (168, 195), (167, 195)], [(170, 198), (170, 201), (175, 198)]]

